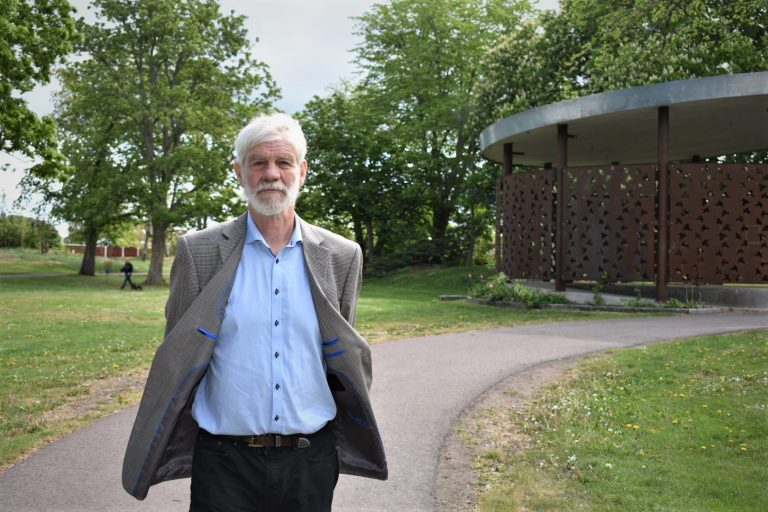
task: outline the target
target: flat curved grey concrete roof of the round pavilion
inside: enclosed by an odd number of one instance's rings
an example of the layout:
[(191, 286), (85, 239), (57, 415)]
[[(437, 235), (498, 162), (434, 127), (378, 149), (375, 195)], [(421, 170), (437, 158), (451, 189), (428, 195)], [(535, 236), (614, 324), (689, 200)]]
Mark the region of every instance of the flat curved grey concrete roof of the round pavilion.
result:
[(670, 161), (768, 150), (768, 71), (677, 80), (592, 94), (507, 117), (480, 134), (483, 157), (557, 165), (557, 125), (568, 124), (568, 165), (657, 160), (658, 107), (669, 107)]

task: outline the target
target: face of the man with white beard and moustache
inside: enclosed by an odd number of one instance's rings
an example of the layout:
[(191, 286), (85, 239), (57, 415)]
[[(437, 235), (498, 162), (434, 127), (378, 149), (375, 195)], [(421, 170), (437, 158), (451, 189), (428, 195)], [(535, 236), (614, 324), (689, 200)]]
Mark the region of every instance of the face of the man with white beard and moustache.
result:
[(291, 208), (307, 174), (307, 161), (298, 162), (285, 140), (254, 144), (242, 166), (235, 162), (238, 181), (248, 205), (261, 215), (279, 215)]

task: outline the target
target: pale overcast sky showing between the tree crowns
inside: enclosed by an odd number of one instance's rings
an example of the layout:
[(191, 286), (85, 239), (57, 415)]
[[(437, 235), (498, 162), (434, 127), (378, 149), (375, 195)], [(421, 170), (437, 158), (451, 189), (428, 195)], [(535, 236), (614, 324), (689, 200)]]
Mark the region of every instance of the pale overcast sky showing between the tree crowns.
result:
[[(2, 1), (2, 0), (0, 0)], [(71, 0), (78, 15), (89, 19), (88, 0)], [(354, 79), (351, 50), (359, 43), (352, 18), (367, 12), (376, 0), (221, 0), (221, 9), (247, 17), (246, 26), (254, 56), (269, 66), (282, 92), (277, 108), (288, 113), (302, 110), (314, 95), (323, 96), (342, 79)], [(557, 0), (540, 0), (541, 8), (552, 9)], [(36, 88), (28, 95), (36, 113), (53, 110), (52, 93), (58, 84)], [(0, 165), (10, 163), (15, 172), (0, 171), (0, 208), (7, 213), (28, 214), (32, 204), (16, 208), (18, 183), (31, 161), (21, 155), (0, 153)], [(5, 199), (3, 200), (3, 194)]]

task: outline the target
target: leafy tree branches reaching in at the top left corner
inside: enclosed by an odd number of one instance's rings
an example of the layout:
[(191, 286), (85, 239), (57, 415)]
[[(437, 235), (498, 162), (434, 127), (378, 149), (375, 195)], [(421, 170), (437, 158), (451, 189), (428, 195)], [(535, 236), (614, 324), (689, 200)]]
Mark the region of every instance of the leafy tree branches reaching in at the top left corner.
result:
[(0, 151), (48, 157), (56, 150), (50, 117), (38, 118), (22, 94), (50, 80), (79, 35), (66, 0), (0, 3)]

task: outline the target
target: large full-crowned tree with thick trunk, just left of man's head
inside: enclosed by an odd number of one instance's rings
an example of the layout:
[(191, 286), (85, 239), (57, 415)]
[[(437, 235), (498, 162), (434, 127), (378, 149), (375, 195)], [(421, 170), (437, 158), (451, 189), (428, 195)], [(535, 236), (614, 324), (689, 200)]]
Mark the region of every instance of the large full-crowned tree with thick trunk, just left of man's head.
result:
[[(236, 201), (233, 134), (277, 90), (251, 56), (244, 18), (213, 0), (96, 0), (99, 22), (84, 28), (72, 72), (109, 90), (102, 117), (114, 117), (133, 211), (152, 229), (148, 284), (163, 282), (173, 226), (223, 218)], [(119, 155), (119, 156), (118, 156)]]

